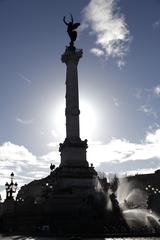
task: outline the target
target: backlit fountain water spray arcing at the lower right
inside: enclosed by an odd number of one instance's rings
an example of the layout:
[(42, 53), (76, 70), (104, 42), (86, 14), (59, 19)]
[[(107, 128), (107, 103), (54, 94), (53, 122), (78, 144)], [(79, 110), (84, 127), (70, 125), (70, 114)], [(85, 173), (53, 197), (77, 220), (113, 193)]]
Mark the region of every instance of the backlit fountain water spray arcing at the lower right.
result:
[(148, 197), (136, 182), (128, 182), (126, 179), (122, 179), (117, 188), (117, 199), (130, 229), (136, 233), (158, 234), (160, 220), (156, 213), (147, 209)]

